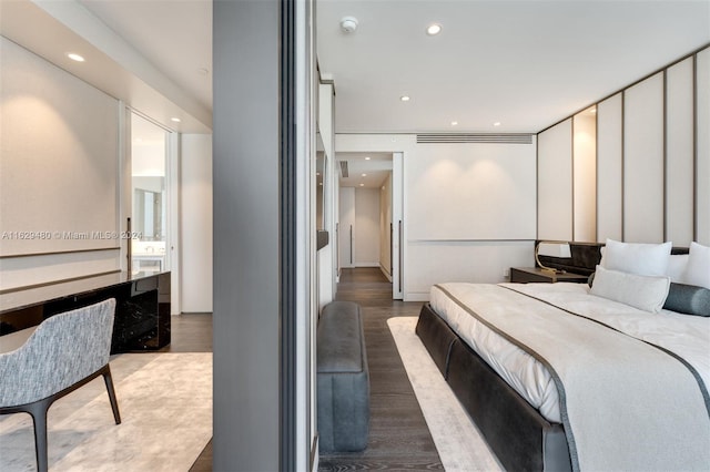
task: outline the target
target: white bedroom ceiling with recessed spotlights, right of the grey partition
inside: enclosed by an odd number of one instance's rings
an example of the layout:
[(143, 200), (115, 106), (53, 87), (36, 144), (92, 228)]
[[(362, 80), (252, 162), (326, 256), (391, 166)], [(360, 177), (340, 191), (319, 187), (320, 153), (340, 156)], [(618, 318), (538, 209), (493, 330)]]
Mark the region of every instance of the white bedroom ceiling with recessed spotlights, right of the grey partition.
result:
[(708, 42), (707, 0), (317, 3), (338, 133), (538, 132)]

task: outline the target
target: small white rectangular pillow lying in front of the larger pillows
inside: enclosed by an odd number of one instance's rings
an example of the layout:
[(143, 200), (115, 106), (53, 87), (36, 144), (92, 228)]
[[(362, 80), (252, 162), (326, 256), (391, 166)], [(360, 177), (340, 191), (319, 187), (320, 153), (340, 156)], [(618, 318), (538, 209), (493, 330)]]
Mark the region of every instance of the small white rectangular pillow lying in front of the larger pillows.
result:
[(597, 266), (595, 281), (589, 293), (657, 314), (663, 308), (669, 288), (670, 278), (666, 276), (640, 276)]

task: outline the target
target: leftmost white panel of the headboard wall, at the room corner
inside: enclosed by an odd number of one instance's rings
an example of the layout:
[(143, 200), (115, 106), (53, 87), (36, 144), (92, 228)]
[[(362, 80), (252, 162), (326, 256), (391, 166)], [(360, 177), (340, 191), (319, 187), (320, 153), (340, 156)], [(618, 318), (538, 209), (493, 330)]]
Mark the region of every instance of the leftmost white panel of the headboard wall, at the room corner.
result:
[(572, 120), (538, 135), (537, 237), (572, 239)]

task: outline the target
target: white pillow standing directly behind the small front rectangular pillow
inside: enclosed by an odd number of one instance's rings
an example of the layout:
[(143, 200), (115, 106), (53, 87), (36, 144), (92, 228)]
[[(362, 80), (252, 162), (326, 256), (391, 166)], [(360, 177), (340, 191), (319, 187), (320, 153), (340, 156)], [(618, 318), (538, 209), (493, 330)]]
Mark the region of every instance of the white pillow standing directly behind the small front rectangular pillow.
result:
[(621, 273), (666, 276), (672, 243), (620, 243), (607, 239), (601, 266)]

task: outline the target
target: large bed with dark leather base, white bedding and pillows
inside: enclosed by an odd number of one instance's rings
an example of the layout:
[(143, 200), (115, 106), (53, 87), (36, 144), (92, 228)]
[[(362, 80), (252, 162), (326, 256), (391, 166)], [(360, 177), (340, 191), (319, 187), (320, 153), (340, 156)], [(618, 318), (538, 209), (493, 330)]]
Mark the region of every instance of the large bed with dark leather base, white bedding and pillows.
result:
[(508, 470), (710, 468), (710, 290), (615, 254), (591, 288), (439, 284), (422, 308), (417, 335)]

